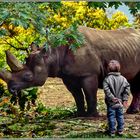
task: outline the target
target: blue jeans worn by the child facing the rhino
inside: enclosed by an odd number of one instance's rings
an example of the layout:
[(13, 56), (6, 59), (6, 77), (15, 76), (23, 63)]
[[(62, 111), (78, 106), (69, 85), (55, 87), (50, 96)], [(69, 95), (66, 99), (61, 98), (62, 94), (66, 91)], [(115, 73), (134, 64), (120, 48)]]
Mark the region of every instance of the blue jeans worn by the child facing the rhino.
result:
[(113, 109), (110, 106), (107, 106), (107, 118), (109, 125), (109, 132), (116, 131), (116, 122), (117, 122), (117, 131), (123, 131), (124, 128), (124, 116), (123, 108)]

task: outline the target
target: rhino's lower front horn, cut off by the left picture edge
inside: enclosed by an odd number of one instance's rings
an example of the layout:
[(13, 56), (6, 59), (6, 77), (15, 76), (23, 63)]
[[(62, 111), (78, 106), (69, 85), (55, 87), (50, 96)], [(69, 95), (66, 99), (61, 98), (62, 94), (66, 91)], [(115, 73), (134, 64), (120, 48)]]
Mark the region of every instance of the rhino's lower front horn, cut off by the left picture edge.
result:
[(0, 78), (7, 83), (12, 78), (12, 74), (9, 71), (3, 69), (0, 71)]

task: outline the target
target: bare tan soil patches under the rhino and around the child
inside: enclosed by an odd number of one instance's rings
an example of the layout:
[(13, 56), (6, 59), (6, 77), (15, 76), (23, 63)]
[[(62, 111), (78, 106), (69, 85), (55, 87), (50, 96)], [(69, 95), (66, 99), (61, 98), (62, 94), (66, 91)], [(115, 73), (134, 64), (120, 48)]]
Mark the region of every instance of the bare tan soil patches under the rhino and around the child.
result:
[[(72, 107), (75, 105), (74, 99), (70, 92), (65, 88), (61, 79), (51, 79), (49, 78), (46, 84), (40, 88), (39, 92), (39, 100), (46, 106), (46, 107)], [(131, 102), (132, 96), (129, 98), (129, 104)], [(71, 130), (73, 133), (85, 133), (89, 132), (91, 128), (95, 128), (93, 131), (105, 131), (105, 127), (107, 124), (106, 120), (106, 108), (104, 104), (104, 93), (102, 90), (98, 91), (98, 108), (101, 114), (101, 117), (98, 118), (78, 118), (80, 124), (83, 126), (87, 126), (86, 129), (82, 128), (82, 126), (77, 126), (76, 124), (72, 126)], [(140, 137), (140, 114), (126, 114), (125, 113), (125, 133), (127, 135), (133, 135), (136, 137)], [(67, 121), (71, 121), (67, 120)], [(58, 129), (55, 130), (55, 133), (62, 133), (62, 129), (66, 129), (64, 122), (58, 120)], [(83, 130), (82, 130), (83, 129)], [(67, 128), (67, 131), (69, 129)], [(71, 132), (71, 133), (72, 133)]]

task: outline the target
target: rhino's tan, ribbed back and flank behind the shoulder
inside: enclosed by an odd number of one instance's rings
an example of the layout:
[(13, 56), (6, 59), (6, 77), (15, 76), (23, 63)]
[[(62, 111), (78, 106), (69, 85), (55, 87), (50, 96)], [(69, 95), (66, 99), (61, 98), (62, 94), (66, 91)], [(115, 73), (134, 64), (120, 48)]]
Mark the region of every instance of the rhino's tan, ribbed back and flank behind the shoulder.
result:
[[(140, 30), (96, 30), (80, 26), (79, 31), (85, 36), (85, 47), (98, 57), (98, 62), (120, 61), (122, 73), (128, 79), (140, 71)], [(84, 52), (85, 47), (80, 51)]]

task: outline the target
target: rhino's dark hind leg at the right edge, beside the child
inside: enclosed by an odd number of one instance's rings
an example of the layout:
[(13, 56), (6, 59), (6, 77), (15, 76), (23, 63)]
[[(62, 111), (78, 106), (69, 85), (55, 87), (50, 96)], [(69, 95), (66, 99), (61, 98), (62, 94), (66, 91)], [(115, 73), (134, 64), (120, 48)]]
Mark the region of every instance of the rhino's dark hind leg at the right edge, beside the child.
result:
[(131, 85), (131, 93), (133, 95), (133, 99), (131, 105), (127, 109), (127, 113), (133, 114), (138, 113), (140, 111), (140, 73), (130, 82)]

